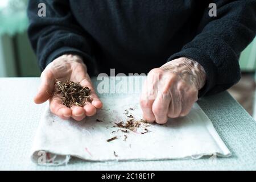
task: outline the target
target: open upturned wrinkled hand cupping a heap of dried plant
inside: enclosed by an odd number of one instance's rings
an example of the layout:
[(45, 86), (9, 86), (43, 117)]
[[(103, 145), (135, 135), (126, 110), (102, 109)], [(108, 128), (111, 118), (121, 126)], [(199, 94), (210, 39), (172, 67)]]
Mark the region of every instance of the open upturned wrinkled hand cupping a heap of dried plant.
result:
[[(102, 107), (102, 102), (93, 89), (92, 82), (87, 73), (86, 65), (82, 62), (81, 57), (75, 55), (63, 55), (48, 64), (41, 75), (41, 85), (34, 98), (36, 104), (42, 104), (49, 100), (51, 112), (60, 118), (69, 119), (70, 117), (81, 121), (85, 116), (96, 114), (97, 109)], [(91, 90), (92, 103), (84, 107), (72, 106), (71, 108), (61, 104), (57, 96), (52, 97), (56, 80), (80, 82), (82, 86), (88, 86)]]

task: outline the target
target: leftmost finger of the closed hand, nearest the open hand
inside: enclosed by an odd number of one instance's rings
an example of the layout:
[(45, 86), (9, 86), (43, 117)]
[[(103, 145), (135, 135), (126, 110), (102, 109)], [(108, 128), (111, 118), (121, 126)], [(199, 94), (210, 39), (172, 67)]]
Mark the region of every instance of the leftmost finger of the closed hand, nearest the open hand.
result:
[(154, 103), (154, 100), (148, 99), (148, 92), (147, 92), (147, 80), (143, 84), (142, 88), (142, 94), (141, 94), (141, 100), (140, 105), (143, 113), (143, 118), (147, 120), (147, 122), (154, 122), (155, 121), (155, 115), (152, 112), (152, 105)]

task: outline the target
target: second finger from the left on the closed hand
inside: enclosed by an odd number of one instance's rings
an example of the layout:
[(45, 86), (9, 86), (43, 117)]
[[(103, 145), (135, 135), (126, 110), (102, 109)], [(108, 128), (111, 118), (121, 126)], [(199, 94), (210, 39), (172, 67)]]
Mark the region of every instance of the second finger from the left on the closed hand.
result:
[(167, 115), (169, 110), (169, 105), (171, 102), (170, 94), (162, 94), (159, 92), (158, 96), (156, 97), (153, 105), (152, 105), (152, 112), (155, 115), (155, 121), (159, 124), (164, 124), (167, 122)]

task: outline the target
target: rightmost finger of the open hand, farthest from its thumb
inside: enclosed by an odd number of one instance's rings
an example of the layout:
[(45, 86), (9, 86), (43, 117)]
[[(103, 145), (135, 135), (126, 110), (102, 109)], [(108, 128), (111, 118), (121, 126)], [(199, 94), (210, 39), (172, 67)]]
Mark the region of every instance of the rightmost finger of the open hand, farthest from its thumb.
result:
[(81, 86), (88, 86), (88, 88), (90, 89), (90, 96), (92, 96), (92, 105), (94, 107), (96, 107), (97, 109), (100, 109), (102, 107), (102, 102), (100, 100), (100, 98), (97, 96), (92, 82), (90, 81), (89, 76), (86, 76), (81, 82), (80, 82)]

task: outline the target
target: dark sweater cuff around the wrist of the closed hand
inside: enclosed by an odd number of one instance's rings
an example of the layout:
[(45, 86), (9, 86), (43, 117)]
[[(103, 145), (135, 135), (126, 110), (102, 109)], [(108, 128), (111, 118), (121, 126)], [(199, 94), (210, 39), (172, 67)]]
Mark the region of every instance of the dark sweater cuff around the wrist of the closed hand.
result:
[(203, 88), (199, 90), (199, 98), (204, 96), (216, 85), (216, 66), (207, 55), (201, 52), (200, 49), (194, 47), (185, 48), (169, 57), (168, 61), (177, 59), (179, 57), (187, 57), (188, 59), (194, 60), (204, 68), (206, 73), (206, 81)]

